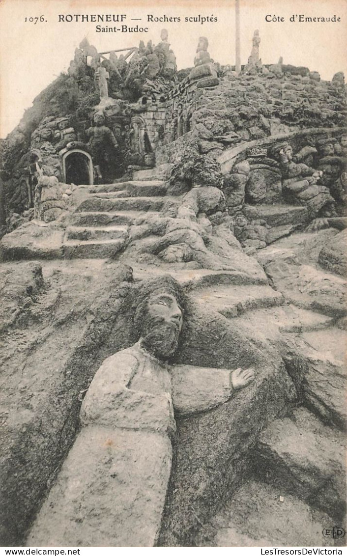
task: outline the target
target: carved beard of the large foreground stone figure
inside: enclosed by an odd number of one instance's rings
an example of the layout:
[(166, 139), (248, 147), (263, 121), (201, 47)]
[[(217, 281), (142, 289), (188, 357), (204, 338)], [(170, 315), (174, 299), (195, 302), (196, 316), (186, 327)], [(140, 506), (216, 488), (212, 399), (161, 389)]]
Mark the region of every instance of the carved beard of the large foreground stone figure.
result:
[(174, 355), (179, 345), (179, 336), (180, 331), (174, 323), (156, 322), (148, 334), (143, 336), (141, 347), (158, 359), (168, 359)]

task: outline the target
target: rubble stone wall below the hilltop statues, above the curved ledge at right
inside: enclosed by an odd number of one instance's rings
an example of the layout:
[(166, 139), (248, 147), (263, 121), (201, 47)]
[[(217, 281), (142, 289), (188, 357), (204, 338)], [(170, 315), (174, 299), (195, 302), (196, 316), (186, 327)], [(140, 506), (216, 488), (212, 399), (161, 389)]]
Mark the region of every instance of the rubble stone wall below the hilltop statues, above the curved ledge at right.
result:
[[(164, 145), (170, 147), (156, 153), (157, 161), (175, 162), (182, 151), (180, 137), (188, 140), (188, 130), (202, 141), (202, 153), (216, 158), (227, 148), (245, 142), (345, 125), (344, 86), (321, 81), (316, 72), (310, 76), (289, 72), (276, 75), (271, 71), (237, 76), (225, 68), (219, 79), (211, 75), (193, 80), (191, 73), (172, 88), (166, 99)], [(180, 126), (179, 112), (185, 116)], [(171, 146), (174, 141), (179, 141), (175, 147)]]

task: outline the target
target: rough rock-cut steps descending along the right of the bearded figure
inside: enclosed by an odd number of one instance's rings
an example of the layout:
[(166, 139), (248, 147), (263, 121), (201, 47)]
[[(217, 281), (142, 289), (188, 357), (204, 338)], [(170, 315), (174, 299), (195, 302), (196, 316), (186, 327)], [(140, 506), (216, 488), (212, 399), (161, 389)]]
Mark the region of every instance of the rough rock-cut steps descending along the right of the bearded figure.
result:
[[(278, 207), (269, 207), (264, 214), (272, 218)], [(252, 450), (249, 474), (219, 512), (201, 522), (195, 546), (345, 545), (341, 528), (346, 511), (347, 372), (345, 332), (336, 326), (341, 317), (337, 305), (343, 310), (344, 304), (335, 299), (336, 283), (341, 288), (343, 280), (319, 271), (316, 265), (317, 246), (324, 243), (323, 235), (331, 234), (331, 230), (320, 232), (321, 237), (294, 234), (259, 251), (275, 289), (215, 285), (191, 294), (200, 304), (237, 319), (247, 337), (254, 334), (274, 345), (298, 392), (296, 404), (262, 430)], [(290, 275), (291, 268), (299, 275), (304, 269), (308, 299), (295, 281), (282, 287), (271, 267), (278, 257), (287, 265), (281, 267), (281, 279)], [(334, 284), (331, 291), (330, 282)], [(296, 296), (291, 288), (298, 291)], [(323, 292), (324, 304), (313, 304), (311, 289), (314, 295)], [(324, 529), (330, 530), (330, 537), (324, 537)]]

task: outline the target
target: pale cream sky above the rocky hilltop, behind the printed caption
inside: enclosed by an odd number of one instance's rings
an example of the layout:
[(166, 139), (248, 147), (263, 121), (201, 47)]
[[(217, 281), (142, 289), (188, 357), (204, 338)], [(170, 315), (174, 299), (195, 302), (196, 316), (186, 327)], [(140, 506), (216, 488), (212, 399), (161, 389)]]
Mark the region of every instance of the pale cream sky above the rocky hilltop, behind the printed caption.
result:
[[(282, 56), (284, 63), (307, 66), (323, 79), (330, 80), (338, 71), (347, 78), (346, 8), (347, 0), (240, 0), (241, 63), (247, 62), (252, 35), (259, 29), (263, 63), (276, 63)], [(95, 22), (59, 22), (59, 16), (69, 14), (124, 14), (123, 23), (99, 24), (138, 25), (148, 31), (97, 32)], [(341, 21), (291, 22), (295, 14), (335, 15)], [(44, 21), (30, 21), (40, 16)], [(148, 16), (181, 21), (148, 21)], [(185, 21), (199, 16), (199, 22)], [(201, 23), (202, 17), (217, 21)], [(168, 31), (179, 69), (194, 64), (200, 36), (209, 39), (216, 62), (235, 64), (235, 0), (0, 0), (0, 137), (18, 125), (39, 92), (67, 71), (83, 37), (103, 52), (138, 46), (140, 40), (157, 44), (162, 28)]]

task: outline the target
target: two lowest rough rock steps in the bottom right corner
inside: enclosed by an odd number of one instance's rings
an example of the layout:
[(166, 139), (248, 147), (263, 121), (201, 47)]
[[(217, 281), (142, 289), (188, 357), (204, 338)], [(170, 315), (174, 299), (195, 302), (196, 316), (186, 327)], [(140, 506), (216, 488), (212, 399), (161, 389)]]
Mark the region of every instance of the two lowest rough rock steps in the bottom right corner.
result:
[[(333, 440), (333, 441), (332, 441)], [(296, 408), (262, 431), (251, 476), (205, 524), (199, 546), (343, 546), (344, 434)], [(260, 519), (261, 516), (261, 519)]]

